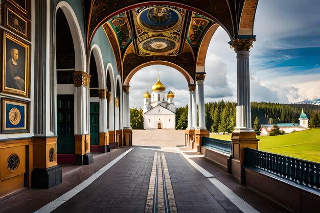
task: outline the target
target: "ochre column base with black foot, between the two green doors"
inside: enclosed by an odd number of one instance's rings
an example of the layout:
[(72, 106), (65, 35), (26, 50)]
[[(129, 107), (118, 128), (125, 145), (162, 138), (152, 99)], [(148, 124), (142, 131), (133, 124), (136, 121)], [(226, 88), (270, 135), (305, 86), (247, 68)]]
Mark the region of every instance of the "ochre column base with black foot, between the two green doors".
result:
[(90, 134), (75, 135), (75, 157), (77, 165), (88, 165), (94, 162), (90, 152)]

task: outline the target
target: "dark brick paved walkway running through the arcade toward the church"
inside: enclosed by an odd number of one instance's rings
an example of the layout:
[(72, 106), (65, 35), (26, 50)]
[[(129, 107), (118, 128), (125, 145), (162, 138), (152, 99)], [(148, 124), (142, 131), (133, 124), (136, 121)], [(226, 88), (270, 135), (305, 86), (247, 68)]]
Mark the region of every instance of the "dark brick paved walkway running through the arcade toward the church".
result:
[[(176, 147), (138, 147), (128, 152), (95, 181), (54, 212), (145, 212), (154, 153), (164, 153), (163, 168), (169, 172), (177, 212), (241, 212), (209, 179), (198, 172)], [(50, 189), (29, 189), (0, 201), (0, 212), (34, 212), (72, 190), (129, 147), (94, 153), (90, 165), (62, 165), (63, 183)], [(185, 150), (186, 148), (180, 148)], [(186, 153), (194, 155), (195, 153)], [(160, 158), (159, 158), (160, 159)], [(233, 176), (203, 157), (192, 159), (260, 212), (286, 209), (235, 182)], [(160, 170), (159, 170), (160, 171)], [(166, 176), (164, 176), (166, 178)], [(168, 181), (169, 182), (169, 181)], [(169, 192), (170, 193), (170, 192)], [(172, 198), (172, 197), (171, 197)], [(158, 211), (159, 212), (159, 211)]]

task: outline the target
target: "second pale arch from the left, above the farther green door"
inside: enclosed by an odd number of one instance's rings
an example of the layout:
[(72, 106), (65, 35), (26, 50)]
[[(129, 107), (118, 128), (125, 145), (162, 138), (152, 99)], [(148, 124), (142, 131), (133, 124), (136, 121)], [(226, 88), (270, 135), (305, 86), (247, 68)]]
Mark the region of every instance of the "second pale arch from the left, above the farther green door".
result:
[[(101, 54), (101, 50), (97, 44), (94, 44), (90, 50), (90, 55), (94, 54), (95, 60), (96, 60), (96, 65), (98, 69), (98, 82), (99, 82), (99, 88), (105, 89), (106, 87), (106, 72), (104, 70), (104, 65), (103, 65), (103, 58)], [(90, 57), (89, 57), (90, 60)], [(90, 61), (89, 63), (90, 64)], [(90, 70), (89, 70), (90, 71)]]

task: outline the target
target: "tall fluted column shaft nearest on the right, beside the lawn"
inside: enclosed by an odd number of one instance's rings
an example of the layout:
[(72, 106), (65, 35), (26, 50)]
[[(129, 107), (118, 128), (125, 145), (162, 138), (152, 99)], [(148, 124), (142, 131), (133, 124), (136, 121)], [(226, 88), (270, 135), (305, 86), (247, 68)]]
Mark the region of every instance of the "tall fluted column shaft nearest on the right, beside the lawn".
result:
[(236, 128), (251, 128), (249, 51), (237, 51)]

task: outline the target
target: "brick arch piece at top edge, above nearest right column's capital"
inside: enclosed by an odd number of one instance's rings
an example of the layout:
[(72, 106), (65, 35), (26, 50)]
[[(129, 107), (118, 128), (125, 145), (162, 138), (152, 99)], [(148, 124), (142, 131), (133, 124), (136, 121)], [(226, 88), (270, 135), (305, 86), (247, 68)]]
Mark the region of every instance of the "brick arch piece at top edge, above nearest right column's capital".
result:
[(253, 35), (258, 0), (246, 0), (241, 12), (239, 35)]

